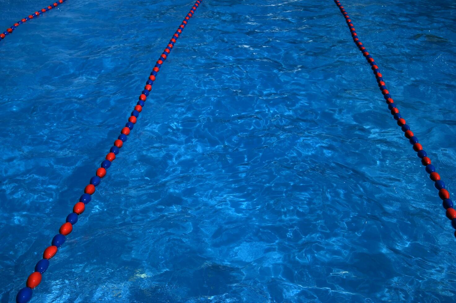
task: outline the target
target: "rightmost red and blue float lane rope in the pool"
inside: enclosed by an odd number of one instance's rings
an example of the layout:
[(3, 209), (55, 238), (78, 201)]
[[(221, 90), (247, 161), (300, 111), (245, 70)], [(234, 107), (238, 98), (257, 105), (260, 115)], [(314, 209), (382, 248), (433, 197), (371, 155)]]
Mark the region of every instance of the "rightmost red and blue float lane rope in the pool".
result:
[[(378, 87), (383, 94), (383, 98), (388, 104), (388, 109), (393, 115), (394, 119), (397, 120), (397, 124), (401, 127), (402, 131), (405, 133), (405, 138), (409, 139), (410, 144), (413, 145), (413, 149), (417, 152), (418, 157), (421, 159), (421, 164), (426, 167), (426, 172), (429, 174), (430, 180), (434, 181), (435, 188), (439, 191), (439, 197), (443, 200), (442, 205), (446, 209), (446, 216), (451, 220), (451, 225), (456, 229), (456, 210), (453, 208), (453, 201), (450, 200), (450, 193), (445, 188), (445, 183), (440, 180), (440, 175), (435, 171), (434, 165), (431, 164), (430, 158), (427, 156), (423, 146), (418, 142), (418, 139), (414, 136), (413, 132), (410, 130), (409, 125), (405, 124), (404, 118), (402, 118), (399, 113), (399, 109), (396, 107), (393, 98), (389, 94), (386, 84), (383, 80), (383, 76), (380, 73), (380, 69), (377, 66), (377, 63), (373, 60), (373, 57), (369, 55), (366, 48), (363, 46), (363, 43), (359, 41), (358, 35), (353, 26), (352, 20), (348, 16), (347, 11), (343, 8), (339, 0), (334, 0), (336, 5), (339, 7), (342, 15), (345, 17), (348, 28), (352, 33), (353, 41), (358, 46), (359, 50), (363, 53), (363, 56), (366, 57), (367, 61), (371, 65), (373, 74), (378, 82)], [(455, 231), (456, 236), (456, 231)]]

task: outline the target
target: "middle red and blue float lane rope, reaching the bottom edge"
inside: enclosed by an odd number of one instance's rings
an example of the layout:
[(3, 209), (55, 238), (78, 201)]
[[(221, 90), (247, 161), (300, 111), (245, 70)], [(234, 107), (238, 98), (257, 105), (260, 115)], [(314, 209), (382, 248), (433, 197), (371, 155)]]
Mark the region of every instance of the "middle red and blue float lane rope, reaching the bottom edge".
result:
[(109, 153), (106, 155), (106, 159), (101, 163), (101, 167), (97, 169), (96, 175), (90, 179), (90, 184), (85, 187), (84, 194), (81, 195), (81, 197), (79, 198), (79, 202), (76, 203), (73, 207), (73, 212), (67, 216), (66, 222), (63, 223), (62, 226), (60, 226), (59, 233), (52, 239), (51, 246), (47, 247), (44, 250), (43, 258), (40, 261), (38, 261), (38, 263), (36, 263), (35, 272), (32, 272), (31, 275), (28, 277), (26, 287), (22, 288), (17, 293), (17, 303), (25, 303), (31, 299), (32, 289), (36, 288), (36, 286), (40, 284), (41, 275), (47, 270), (47, 267), (49, 267), (49, 259), (55, 256), (58, 248), (63, 244), (63, 242), (65, 242), (65, 236), (67, 236), (71, 231), (73, 231), (73, 225), (76, 224), (76, 222), (78, 222), (78, 215), (83, 213), (85, 205), (88, 202), (90, 202), (91, 195), (93, 195), (93, 193), (95, 192), (95, 187), (98, 184), (100, 184), (101, 178), (103, 178), (106, 175), (106, 169), (108, 169), (109, 166), (111, 166), (111, 163), (112, 161), (114, 161), (116, 154), (119, 154), (119, 149), (127, 140), (128, 134), (130, 134), (130, 131), (133, 129), (133, 126), (136, 123), (136, 119), (138, 118), (140, 112), (142, 111), (142, 108), (145, 105), (145, 100), (147, 96), (149, 96), (149, 92), (152, 89), (152, 84), (154, 84), (155, 77), (157, 76), (157, 73), (160, 71), (161, 65), (166, 60), (168, 54), (174, 47), (177, 38), (179, 38), (185, 26), (187, 25), (187, 21), (190, 18), (192, 18), (193, 14), (195, 13), (195, 10), (201, 4), (201, 2), (202, 0), (196, 1), (190, 12), (182, 21), (177, 31), (174, 33), (173, 37), (171, 38), (171, 41), (169, 41), (160, 58), (156, 62), (155, 67), (150, 73), (149, 80), (147, 80), (144, 90), (140, 94), (139, 101), (136, 104), (133, 112), (131, 112), (131, 116), (130, 118), (128, 118), (128, 122), (125, 124), (125, 127), (122, 128), (119, 138), (114, 141), (114, 145), (111, 147)]

